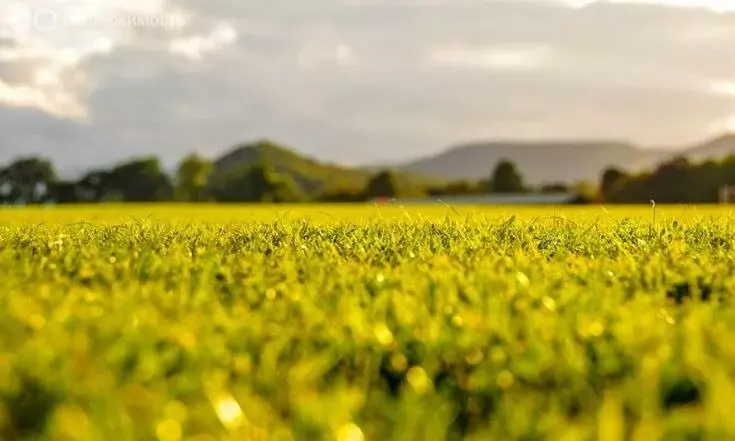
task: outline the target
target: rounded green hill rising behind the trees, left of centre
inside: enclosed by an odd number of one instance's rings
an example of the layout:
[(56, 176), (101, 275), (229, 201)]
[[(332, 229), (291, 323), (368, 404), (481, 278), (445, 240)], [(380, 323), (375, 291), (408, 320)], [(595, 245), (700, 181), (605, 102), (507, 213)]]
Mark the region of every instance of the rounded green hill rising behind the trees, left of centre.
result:
[[(234, 148), (214, 162), (214, 173), (222, 174), (233, 168), (256, 164), (267, 165), (290, 176), (312, 195), (327, 190), (362, 188), (372, 175), (370, 170), (321, 162), (270, 141)], [(437, 181), (410, 172), (399, 172), (398, 179), (405, 185), (425, 185)]]

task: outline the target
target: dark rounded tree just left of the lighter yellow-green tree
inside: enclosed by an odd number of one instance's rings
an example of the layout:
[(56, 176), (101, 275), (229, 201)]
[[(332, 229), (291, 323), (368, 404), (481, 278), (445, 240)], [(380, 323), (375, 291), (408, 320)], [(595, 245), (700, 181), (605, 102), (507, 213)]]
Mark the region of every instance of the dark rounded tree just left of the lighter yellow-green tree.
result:
[(173, 199), (173, 184), (157, 158), (139, 158), (114, 167), (103, 179), (106, 194), (119, 194), (125, 202)]

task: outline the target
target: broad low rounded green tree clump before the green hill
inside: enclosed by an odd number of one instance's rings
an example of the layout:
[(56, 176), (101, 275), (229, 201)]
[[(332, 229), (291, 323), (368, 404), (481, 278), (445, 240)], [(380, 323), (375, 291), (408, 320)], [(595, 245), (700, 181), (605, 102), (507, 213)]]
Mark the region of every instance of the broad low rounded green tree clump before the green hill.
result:
[(217, 176), (210, 186), (220, 202), (301, 202), (306, 195), (289, 176), (265, 165), (237, 167)]

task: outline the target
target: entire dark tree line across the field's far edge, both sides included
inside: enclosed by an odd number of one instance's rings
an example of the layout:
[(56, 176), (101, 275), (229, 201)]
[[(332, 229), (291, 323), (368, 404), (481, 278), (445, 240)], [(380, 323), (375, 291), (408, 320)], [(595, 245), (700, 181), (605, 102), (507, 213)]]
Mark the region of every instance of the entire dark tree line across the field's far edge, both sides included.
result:
[(608, 168), (592, 183), (525, 183), (512, 161), (501, 161), (488, 179), (417, 185), (392, 170), (377, 171), (365, 182), (343, 188), (306, 188), (272, 165), (251, 164), (218, 172), (199, 155), (185, 157), (168, 174), (156, 157), (135, 158), (92, 170), (75, 180), (61, 179), (51, 161), (19, 158), (0, 167), (0, 204), (71, 204), (99, 202), (360, 202), (378, 198), (465, 196), (488, 193), (557, 193), (578, 195), (578, 202), (713, 203), (720, 190), (735, 186), (735, 155), (692, 163), (677, 157), (657, 168), (629, 173)]

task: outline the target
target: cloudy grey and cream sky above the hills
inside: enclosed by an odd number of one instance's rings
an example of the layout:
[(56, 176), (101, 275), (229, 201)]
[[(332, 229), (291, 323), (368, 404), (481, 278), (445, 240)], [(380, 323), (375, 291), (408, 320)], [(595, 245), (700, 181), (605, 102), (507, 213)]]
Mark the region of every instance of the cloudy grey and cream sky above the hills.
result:
[(0, 162), (735, 132), (735, 0), (2, 0)]

